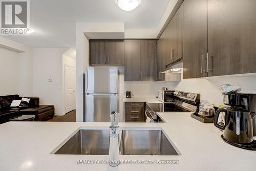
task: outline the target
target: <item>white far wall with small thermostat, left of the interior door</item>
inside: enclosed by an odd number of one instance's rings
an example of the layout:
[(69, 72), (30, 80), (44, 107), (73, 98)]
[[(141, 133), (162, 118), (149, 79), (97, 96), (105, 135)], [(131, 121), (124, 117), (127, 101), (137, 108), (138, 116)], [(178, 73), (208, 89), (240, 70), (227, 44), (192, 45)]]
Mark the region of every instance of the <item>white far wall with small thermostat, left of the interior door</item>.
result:
[[(55, 106), (55, 115), (63, 115), (62, 54), (67, 48), (33, 49), (33, 96), (40, 104)], [(52, 82), (48, 82), (48, 78)]]

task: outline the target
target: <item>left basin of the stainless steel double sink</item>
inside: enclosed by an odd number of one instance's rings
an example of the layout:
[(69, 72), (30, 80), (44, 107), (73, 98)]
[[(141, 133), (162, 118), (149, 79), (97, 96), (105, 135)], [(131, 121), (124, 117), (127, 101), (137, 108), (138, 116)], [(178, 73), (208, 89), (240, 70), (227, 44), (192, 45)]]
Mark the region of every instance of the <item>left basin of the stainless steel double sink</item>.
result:
[(79, 130), (54, 154), (109, 155), (109, 131)]

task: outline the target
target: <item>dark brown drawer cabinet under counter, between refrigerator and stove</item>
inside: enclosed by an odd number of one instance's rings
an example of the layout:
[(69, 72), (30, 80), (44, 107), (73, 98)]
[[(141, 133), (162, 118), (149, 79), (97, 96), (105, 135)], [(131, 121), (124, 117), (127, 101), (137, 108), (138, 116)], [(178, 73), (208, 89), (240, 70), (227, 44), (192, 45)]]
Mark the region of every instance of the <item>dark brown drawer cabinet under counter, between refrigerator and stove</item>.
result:
[(144, 102), (125, 102), (125, 122), (144, 122), (144, 114)]

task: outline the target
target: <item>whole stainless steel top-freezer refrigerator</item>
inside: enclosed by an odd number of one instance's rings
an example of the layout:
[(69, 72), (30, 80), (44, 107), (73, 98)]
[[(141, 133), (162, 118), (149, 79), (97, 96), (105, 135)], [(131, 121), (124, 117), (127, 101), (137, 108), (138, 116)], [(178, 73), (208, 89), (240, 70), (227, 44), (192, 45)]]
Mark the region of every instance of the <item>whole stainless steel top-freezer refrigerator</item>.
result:
[(110, 122), (110, 112), (118, 112), (118, 68), (86, 68), (86, 122)]

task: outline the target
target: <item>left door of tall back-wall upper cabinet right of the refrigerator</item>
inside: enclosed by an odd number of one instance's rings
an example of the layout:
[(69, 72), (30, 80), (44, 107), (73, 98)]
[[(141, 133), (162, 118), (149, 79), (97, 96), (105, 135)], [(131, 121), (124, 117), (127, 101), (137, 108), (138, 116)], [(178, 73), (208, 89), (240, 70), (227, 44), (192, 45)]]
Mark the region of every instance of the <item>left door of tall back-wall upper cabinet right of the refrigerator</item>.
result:
[(124, 40), (124, 81), (140, 81), (140, 40)]

